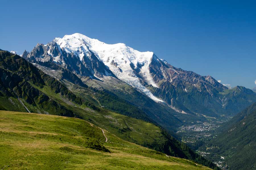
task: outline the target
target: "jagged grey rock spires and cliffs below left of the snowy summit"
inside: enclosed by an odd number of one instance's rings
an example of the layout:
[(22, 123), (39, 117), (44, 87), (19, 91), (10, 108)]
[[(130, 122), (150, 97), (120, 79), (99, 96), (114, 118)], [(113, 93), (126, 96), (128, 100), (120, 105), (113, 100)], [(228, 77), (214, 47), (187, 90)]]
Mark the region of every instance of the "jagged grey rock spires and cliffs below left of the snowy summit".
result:
[(67, 53), (63, 48), (52, 41), (48, 44), (37, 44), (35, 48), (23, 58), (34, 63), (52, 62), (68, 69), (79, 76), (89, 76), (93, 78), (102, 78), (103, 76), (115, 76), (94, 53), (81, 57), (74, 53)]

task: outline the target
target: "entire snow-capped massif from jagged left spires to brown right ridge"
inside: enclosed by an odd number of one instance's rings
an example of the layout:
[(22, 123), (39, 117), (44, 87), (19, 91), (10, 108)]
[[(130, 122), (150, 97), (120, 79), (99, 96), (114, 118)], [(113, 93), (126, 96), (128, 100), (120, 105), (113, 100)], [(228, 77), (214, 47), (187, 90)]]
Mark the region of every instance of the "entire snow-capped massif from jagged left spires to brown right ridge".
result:
[[(256, 101), (252, 91), (247, 91), (250, 95), (230, 95), (231, 99), (227, 97), (231, 91), (223, 93), (228, 88), (212, 76), (173, 67), (153, 52), (139, 52), (123, 43), (106, 44), (79, 33), (55, 38), (46, 45), (37, 44), (23, 57), (39, 65), (56, 63), (75, 73), (82, 81), (89, 77), (104, 83), (117, 78), (182, 114), (214, 116), (225, 114), (227, 109), (232, 114), (242, 108), (234, 103), (233, 98), (243, 100), (245, 107)], [(114, 81), (111, 86), (119, 82)], [(234, 88), (234, 91), (237, 89), (245, 90)]]

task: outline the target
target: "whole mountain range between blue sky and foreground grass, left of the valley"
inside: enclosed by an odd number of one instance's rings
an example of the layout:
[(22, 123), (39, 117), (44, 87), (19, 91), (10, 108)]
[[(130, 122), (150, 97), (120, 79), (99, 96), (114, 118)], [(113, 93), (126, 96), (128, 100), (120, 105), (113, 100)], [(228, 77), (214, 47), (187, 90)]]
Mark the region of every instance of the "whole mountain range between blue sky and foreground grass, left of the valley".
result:
[(219, 168), (179, 141), (177, 129), (233, 117), (256, 102), (256, 93), (243, 86), (227, 88), (153, 52), (79, 33), (20, 56), (0, 50), (0, 75), (0, 110), (80, 118), (122, 140), (213, 169)]

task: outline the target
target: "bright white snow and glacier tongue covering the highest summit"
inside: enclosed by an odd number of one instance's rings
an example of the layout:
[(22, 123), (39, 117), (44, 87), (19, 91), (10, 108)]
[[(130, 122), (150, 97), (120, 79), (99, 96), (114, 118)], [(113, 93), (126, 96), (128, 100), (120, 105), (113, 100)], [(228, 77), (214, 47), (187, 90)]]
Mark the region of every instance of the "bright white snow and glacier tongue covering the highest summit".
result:
[[(55, 41), (60, 48), (64, 48), (66, 52), (74, 53), (79, 56), (80, 60), (82, 60), (85, 55), (90, 56), (90, 51), (92, 51), (98, 59), (103, 61), (104, 64), (110, 68), (117, 78), (148, 95), (151, 99), (164, 102), (155, 97), (141, 84), (140, 79), (135, 75), (131, 67), (131, 65), (134, 65), (136, 69), (137, 63), (142, 65), (139, 74), (143, 77), (144, 81), (157, 88), (158, 86), (153, 81), (149, 72), (149, 65), (154, 55), (153, 52), (139, 52), (123, 43), (106, 44), (79, 33), (65, 35), (63, 38), (55, 38), (53, 41)], [(111, 64), (112, 60), (114, 63), (117, 63), (117, 66)], [(119, 68), (122, 71), (120, 71)]]

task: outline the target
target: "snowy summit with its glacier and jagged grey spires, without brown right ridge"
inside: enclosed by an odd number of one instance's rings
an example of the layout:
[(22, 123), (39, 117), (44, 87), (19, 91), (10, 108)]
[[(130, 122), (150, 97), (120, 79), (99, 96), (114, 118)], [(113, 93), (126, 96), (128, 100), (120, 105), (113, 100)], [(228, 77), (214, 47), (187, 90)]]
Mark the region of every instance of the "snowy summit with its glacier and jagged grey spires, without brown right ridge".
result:
[(81, 76), (94, 76), (101, 80), (106, 76), (116, 76), (151, 99), (164, 102), (142, 84), (143, 81), (157, 87), (149, 72), (153, 56), (153, 52), (139, 52), (122, 43), (106, 44), (75, 33), (55, 38), (46, 45), (37, 44), (26, 58), (52, 61)]

